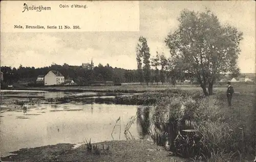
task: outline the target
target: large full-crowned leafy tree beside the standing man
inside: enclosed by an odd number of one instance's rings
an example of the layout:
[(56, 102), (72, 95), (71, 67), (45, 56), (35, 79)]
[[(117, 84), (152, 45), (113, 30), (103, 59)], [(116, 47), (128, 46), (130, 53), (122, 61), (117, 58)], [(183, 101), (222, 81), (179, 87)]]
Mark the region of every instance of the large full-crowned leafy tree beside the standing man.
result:
[(171, 59), (197, 77), (205, 95), (212, 95), (213, 84), (221, 73), (237, 70), (243, 33), (230, 25), (221, 25), (209, 10), (183, 10), (178, 20), (178, 30), (165, 39)]

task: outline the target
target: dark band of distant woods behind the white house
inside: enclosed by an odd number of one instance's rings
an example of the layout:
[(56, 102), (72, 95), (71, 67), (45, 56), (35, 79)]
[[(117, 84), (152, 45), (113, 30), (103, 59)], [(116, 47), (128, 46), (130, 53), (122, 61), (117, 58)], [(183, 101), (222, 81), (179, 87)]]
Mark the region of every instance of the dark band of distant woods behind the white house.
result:
[[(93, 69), (87, 69), (82, 66), (71, 66), (68, 64), (57, 65), (52, 64), (49, 67), (34, 68), (23, 67), (20, 65), (18, 68), (2, 66), (5, 84), (16, 83), (36, 83), (38, 75), (46, 75), (50, 70), (59, 71), (65, 79), (73, 79), (78, 85), (87, 85), (96, 81), (113, 81), (114, 83), (139, 83), (141, 81), (140, 72), (137, 70), (127, 70), (122, 68), (113, 68), (109, 64), (103, 66), (99, 64)], [(149, 82), (162, 82), (166, 81), (165, 75), (162, 78), (155, 76), (156, 70), (153, 67), (150, 69)], [(163, 71), (164, 73), (165, 71)]]

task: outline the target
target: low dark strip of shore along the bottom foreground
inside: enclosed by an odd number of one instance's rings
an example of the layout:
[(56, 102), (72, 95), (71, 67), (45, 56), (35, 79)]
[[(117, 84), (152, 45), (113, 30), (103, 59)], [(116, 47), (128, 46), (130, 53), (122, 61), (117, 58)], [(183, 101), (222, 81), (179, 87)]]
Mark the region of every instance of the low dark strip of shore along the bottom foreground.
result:
[[(110, 146), (109, 152), (103, 151)], [(73, 148), (72, 144), (48, 145), (15, 151), (16, 155), (2, 157), (2, 161), (185, 161), (169, 156), (168, 152), (145, 140), (110, 141), (97, 143), (100, 154), (89, 152), (85, 145)]]

